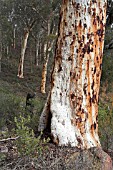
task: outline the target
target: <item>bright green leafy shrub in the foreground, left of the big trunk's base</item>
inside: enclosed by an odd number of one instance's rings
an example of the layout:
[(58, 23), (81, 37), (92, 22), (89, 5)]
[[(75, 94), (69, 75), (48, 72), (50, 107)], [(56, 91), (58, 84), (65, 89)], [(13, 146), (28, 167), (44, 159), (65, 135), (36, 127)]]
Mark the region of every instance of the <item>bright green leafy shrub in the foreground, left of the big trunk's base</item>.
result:
[(19, 139), (16, 141), (16, 146), (20, 155), (32, 155), (33, 157), (42, 152), (44, 145), (49, 142), (49, 138), (41, 139), (42, 133), (36, 138), (33, 129), (28, 126), (30, 121), (30, 116), (26, 118), (22, 115), (20, 115), (19, 118), (15, 117), (16, 128), (13, 129), (13, 132), (19, 136)]

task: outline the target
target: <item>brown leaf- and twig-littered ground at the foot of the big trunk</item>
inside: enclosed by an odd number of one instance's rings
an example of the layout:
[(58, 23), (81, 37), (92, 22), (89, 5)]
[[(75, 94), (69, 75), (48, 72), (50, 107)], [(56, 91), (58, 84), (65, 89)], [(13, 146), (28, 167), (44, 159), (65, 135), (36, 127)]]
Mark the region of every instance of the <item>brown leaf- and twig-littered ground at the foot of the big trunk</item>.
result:
[[(35, 157), (32, 157), (32, 155), (19, 157), (16, 155), (16, 152), (10, 148), (7, 153), (7, 159), (0, 161), (0, 169), (112, 170), (110, 157), (101, 149), (97, 150), (97, 148), (92, 148), (89, 150), (80, 150), (72, 147), (58, 147), (52, 143), (43, 147), (43, 152)], [(102, 158), (100, 157), (101, 152)], [(110, 156), (113, 158), (113, 154)]]

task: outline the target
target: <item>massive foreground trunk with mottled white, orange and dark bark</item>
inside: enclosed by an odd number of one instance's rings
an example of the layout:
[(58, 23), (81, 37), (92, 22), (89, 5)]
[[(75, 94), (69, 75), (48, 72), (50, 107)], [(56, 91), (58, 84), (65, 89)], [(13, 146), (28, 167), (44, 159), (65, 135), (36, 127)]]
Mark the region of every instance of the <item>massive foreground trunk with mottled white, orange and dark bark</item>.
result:
[(100, 147), (98, 94), (106, 3), (63, 0), (51, 90), (39, 123), (39, 131), (50, 127), (58, 145)]

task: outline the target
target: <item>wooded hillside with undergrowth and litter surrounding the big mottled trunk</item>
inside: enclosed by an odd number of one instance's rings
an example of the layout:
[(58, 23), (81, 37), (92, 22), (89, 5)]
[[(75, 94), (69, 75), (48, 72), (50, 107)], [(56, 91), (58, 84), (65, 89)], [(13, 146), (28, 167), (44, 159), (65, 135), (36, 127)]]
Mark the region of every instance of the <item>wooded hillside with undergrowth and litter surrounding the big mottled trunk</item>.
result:
[[(102, 169), (96, 148), (57, 146), (48, 131), (38, 132), (50, 91), (61, 4), (61, 0), (0, 0), (1, 170)], [(100, 143), (105, 157), (107, 153), (113, 161), (112, 0), (107, 2), (98, 108)]]

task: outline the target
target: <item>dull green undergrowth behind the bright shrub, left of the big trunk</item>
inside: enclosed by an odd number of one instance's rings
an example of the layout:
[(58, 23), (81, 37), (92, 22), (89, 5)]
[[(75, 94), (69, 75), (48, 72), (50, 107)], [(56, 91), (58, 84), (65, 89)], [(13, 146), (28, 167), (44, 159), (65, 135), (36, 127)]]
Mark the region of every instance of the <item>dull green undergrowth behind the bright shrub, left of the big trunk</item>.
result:
[(0, 83), (0, 129), (7, 126), (10, 132), (15, 127), (14, 117), (19, 118), (24, 113), (31, 117), (29, 126), (36, 131), (44, 100), (36, 97), (32, 99), (31, 106), (26, 107), (25, 97), (16, 95), (9, 82), (0, 81)]

